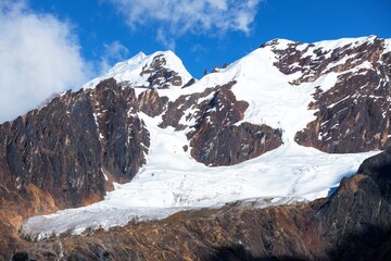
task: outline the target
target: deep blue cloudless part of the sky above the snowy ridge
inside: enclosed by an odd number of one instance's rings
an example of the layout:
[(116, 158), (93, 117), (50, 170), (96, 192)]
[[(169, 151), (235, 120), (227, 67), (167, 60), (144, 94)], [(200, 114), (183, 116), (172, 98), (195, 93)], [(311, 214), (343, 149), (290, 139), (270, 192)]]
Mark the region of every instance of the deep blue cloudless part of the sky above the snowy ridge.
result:
[[(83, 54), (87, 60), (99, 60), (104, 55), (104, 47), (116, 41), (128, 50), (123, 53), (123, 58), (139, 51), (148, 54), (157, 50), (174, 49), (195, 77), (200, 77), (205, 69), (212, 70), (214, 65), (232, 62), (274, 38), (312, 42), (367, 35), (391, 37), (389, 0), (253, 1), (256, 4), (253, 7), (254, 16), (250, 17), (252, 22), (248, 24), (249, 32), (234, 27), (201, 27), (197, 32), (188, 30), (181, 35), (167, 33), (168, 44), (159, 39), (156, 28), (163, 26), (166, 28), (172, 25), (169, 21), (155, 18), (153, 15), (157, 14), (147, 14), (148, 11), (142, 10), (142, 16), (151, 17), (146, 24), (136, 24), (135, 28), (131, 28), (127, 24), (128, 14), (124, 12), (129, 12), (134, 8), (133, 4), (137, 5), (140, 1), (129, 0), (125, 8), (119, 5), (119, 2), (126, 1), (31, 0), (30, 4), (37, 12), (52, 13), (60, 20), (71, 22), (76, 27)], [(152, 2), (163, 4), (164, 0)], [(231, 8), (245, 0), (227, 2), (231, 2), (228, 4), (228, 8)], [(157, 13), (159, 11), (156, 10)], [(179, 21), (178, 26), (184, 23)], [(216, 32), (218, 29), (223, 33)], [(115, 59), (115, 55), (110, 58), (110, 62), (116, 62)]]

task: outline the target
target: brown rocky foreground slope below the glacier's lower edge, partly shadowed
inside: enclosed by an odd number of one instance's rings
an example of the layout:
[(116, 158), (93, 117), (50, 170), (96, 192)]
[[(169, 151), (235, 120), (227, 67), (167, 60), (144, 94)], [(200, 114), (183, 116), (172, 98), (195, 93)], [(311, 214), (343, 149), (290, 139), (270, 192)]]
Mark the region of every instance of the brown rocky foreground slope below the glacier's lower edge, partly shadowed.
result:
[(179, 212), (163, 221), (35, 243), (29, 252), (38, 259), (42, 249), (56, 253), (61, 240), (65, 258), (75, 260), (388, 260), (390, 162), (390, 152), (366, 160), (333, 196), (310, 203)]

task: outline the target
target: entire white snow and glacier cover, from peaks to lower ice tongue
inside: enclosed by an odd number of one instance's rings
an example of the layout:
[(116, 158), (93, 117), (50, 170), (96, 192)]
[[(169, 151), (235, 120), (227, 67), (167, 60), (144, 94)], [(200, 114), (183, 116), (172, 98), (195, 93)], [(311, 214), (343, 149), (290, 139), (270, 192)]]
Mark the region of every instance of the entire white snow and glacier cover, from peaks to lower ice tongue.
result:
[[(209, 95), (197, 96), (188, 108), (179, 104), (177, 110), (184, 110), (184, 113), (178, 122), (185, 126), (179, 130), (175, 130), (169, 124), (166, 128), (160, 127), (164, 121), (163, 114), (169, 113), (169, 105), (155, 117), (138, 112), (137, 115), (142, 119), (150, 133), (151, 146), (147, 164), (136, 177), (128, 184), (116, 184), (115, 190), (108, 192), (105, 200), (101, 202), (31, 217), (23, 225), (22, 234), (36, 238), (67, 231), (78, 234), (87, 227), (109, 228), (124, 225), (130, 220), (164, 217), (182, 209), (216, 207), (251, 198), (274, 198), (276, 203), (283, 203), (327, 196), (343, 176), (354, 174), (361, 162), (377, 151), (330, 154), (299, 146), (295, 135), (316, 119), (314, 114), (319, 108), (308, 107), (316, 102), (316, 94), (327, 92), (341, 80), (341, 75), (354, 69), (360, 71), (367, 65), (360, 62), (341, 69), (339, 65), (345, 65), (349, 59), (344, 55), (331, 59), (329, 65), (320, 62), (336, 55), (336, 50), (342, 47), (371, 41), (373, 37), (313, 45), (274, 40), (186, 88), (180, 87), (191, 76), (172, 52), (157, 52), (148, 57), (140, 53), (115, 65), (106, 75), (93, 79), (85, 87), (94, 87), (101, 79), (109, 77), (126, 83), (126, 86), (156, 87), (151, 84), (151, 75), (161, 66), (153, 64), (156, 57), (164, 57), (164, 67), (177, 72), (182, 80), (179, 88), (168, 84), (166, 88), (159, 89), (160, 97), (167, 97), (168, 101), (175, 102), (180, 97), (189, 100), (191, 95), (201, 94), (207, 88), (213, 90)], [(303, 59), (315, 62), (323, 59), (320, 65), (307, 66), (299, 59), (298, 62), (288, 59), (289, 62), (283, 63), (283, 59), (291, 53), (287, 50), (292, 46)], [(384, 52), (389, 49), (388, 46)], [(337, 66), (338, 70), (335, 69)], [(148, 70), (150, 67), (154, 70)], [(282, 145), (232, 166), (210, 167), (191, 157), (191, 147), (188, 150), (184, 150), (184, 147), (189, 147), (187, 135), (193, 132), (194, 124), (199, 121), (199, 104), (205, 101), (213, 103), (219, 87), (228, 83), (234, 83), (230, 90), (238, 101), (245, 101), (248, 108), (240, 121), (227, 124), (265, 124), (281, 132)], [(143, 89), (138, 88), (137, 94), (141, 91)]]

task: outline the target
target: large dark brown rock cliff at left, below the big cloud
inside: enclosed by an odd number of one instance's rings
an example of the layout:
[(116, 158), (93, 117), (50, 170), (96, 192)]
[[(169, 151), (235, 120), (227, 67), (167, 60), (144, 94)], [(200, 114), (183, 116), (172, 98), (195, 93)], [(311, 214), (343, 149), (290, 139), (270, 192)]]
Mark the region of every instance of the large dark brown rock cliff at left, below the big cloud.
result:
[(104, 175), (130, 181), (144, 163), (149, 134), (136, 111), (134, 89), (108, 79), (0, 125), (1, 184), (33, 184), (59, 208), (101, 199)]

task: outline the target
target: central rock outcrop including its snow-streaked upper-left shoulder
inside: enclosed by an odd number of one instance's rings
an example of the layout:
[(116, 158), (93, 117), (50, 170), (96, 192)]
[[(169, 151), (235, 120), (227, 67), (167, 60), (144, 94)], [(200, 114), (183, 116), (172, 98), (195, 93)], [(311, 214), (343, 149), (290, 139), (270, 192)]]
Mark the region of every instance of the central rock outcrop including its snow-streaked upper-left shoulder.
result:
[[(191, 156), (205, 165), (232, 165), (279, 147), (281, 133), (267, 125), (240, 123), (249, 107), (230, 90), (236, 82), (179, 97), (168, 103), (161, 127), (190, 129)], [(228, 141), (229, 140), (229, 141)]]

